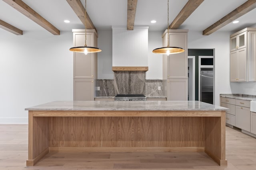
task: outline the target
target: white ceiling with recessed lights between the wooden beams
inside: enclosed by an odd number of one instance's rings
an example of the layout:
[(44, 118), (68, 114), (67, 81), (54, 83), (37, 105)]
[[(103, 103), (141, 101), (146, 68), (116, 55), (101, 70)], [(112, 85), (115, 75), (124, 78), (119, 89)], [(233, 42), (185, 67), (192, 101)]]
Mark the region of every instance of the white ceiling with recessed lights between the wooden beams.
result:
[[(202, 4), (180, 26), (180, 29), (203, 31), (214, 22), (246, 2), (247, 0), (204, 0)], [(23, 0), (28, 6), (48, 20), (60, 31), (83, 29), (84, 25), (66, 0)], [(81, 0), (85, 4), (84, 0)], [(170, 0), (170, 21), (178, 15), (188, 0)], [(126, 25), (127, 0), (87, 0), (87, 12), (97, 30), (111, 30), (112, 25)], [(238, 31), (256, 24), (256, 9), (238, 18), (218, 31)], [(44, 30), (4, 1), (0, 0), (0, 20), (22, 31)], [(64, 23), (70, 20), (70, 23)], [(150, 23), (156, 20), (156, 23)], [(167, 28), (167, 0), (138, 0), (134, 25), (149, 25), (150, 31)]]

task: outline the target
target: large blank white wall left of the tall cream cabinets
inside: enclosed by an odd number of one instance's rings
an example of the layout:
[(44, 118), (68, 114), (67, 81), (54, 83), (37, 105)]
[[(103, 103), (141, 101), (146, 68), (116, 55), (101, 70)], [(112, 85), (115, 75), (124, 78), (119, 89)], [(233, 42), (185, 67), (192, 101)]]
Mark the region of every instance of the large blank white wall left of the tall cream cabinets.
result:
[(0, 123), (28, 123), (26, 107), (73, 98), (72, 31), (0, 30)]

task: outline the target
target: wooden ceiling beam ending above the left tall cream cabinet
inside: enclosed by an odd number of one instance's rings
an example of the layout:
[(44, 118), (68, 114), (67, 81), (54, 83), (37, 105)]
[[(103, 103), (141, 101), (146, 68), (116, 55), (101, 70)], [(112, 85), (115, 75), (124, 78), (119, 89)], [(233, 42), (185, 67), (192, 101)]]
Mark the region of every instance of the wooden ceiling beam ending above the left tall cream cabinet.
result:
[[(85, 26), (85, 20), (84, 20), (85, 9), (81, 1), (80, 0), (66, 0), (66, 1), (68, 2), (68, 4), (71, 6), (73, 11), (76, 13), (78, 18), (82, 21), (82, 23)], [(95, 31), (97, 32), (97, 29), (93, 25), (92, 20), (90, 19), (90, 16), (88, 15), (87, 12), (86, 12), (86, 29), (95, 29)]]

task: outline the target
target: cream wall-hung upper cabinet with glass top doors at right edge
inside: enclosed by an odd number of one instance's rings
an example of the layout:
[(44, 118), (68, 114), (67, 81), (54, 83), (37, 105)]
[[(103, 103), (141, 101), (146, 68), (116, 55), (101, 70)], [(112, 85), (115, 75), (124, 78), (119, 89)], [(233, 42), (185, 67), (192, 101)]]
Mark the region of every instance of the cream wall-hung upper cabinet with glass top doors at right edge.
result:
[(256, 81), (256, 28), (230, 35), (230, 82)]

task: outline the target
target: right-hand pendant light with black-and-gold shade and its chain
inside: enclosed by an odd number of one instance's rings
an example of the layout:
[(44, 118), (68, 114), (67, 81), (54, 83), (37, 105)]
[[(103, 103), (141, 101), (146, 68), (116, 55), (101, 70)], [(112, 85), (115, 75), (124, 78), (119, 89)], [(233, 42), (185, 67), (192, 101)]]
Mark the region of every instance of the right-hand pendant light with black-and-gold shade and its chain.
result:
[(170, 47), (169, 45), (169, 0), (167, 2), (167, 47), (161, 47), (154, 49), (152, 52), (156, 54), (176, 54), (176, 53), (182, 53), (185, 50), (180, 47)]

